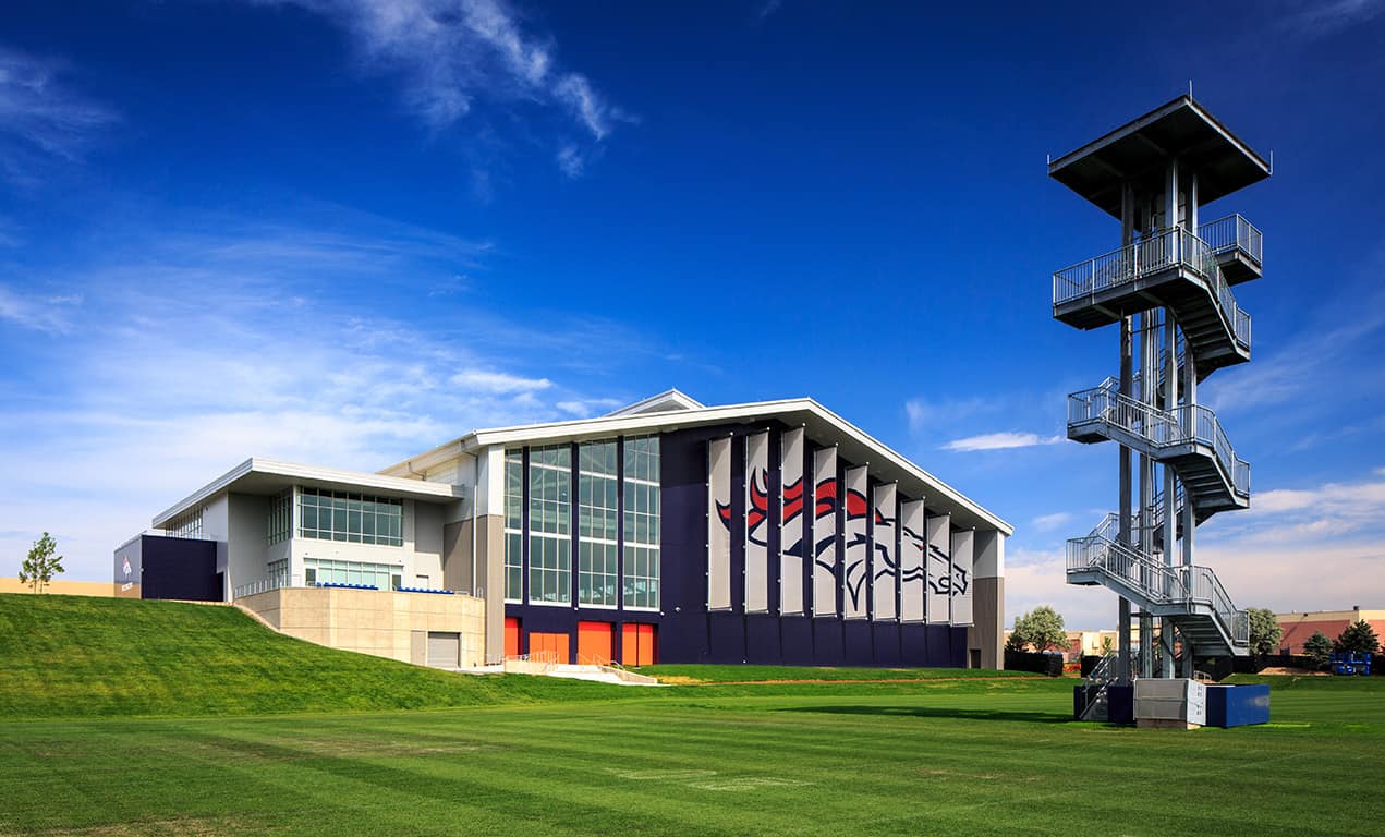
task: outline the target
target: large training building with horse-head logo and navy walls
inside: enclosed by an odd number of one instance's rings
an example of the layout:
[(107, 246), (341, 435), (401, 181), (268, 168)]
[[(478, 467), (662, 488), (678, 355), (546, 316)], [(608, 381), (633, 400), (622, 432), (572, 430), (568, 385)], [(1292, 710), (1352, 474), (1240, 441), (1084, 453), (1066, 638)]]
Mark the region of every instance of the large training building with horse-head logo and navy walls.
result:
[(999, 668), (1011, 531), (812, 399), (669, 391), (377, 474), (249, 459), (118, 549), (115, 583), (442, 667)]

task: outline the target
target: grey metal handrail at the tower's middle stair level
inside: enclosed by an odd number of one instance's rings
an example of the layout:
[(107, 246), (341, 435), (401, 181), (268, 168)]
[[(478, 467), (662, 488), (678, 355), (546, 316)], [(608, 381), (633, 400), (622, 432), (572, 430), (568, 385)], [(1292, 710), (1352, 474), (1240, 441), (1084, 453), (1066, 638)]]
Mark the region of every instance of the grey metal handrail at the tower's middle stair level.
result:
[(1251, 463), (1235, 455), (1216, 413), (1201, 405), (1181, 405), (1161, 410), (1120, 394), (1115, 378), (1100, 387), (1068, 396), (1068, 427), (1102, 423), (1145, 441), (1151, 448), (1198, 443), (1212, 448), (1215, 459), (1231, 482), (1233, 491), (1251, 496)]

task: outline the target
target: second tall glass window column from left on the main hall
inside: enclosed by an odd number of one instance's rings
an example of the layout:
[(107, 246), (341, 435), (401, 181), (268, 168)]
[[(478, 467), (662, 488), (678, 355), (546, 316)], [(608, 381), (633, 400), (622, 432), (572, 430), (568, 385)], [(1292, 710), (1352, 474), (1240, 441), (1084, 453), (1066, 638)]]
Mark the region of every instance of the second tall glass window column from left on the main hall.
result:
[(529, 450), (529, 601), (572, 601), (572, 449)]

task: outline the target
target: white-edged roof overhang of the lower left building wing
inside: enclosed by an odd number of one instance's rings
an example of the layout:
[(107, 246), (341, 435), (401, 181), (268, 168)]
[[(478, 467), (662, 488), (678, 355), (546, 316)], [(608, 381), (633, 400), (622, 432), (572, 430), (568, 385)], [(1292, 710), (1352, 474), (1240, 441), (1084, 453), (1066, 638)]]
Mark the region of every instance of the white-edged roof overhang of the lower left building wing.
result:
[(187, 497), (165, 509), (154, 517), (154, 528), (183, 514), (188, 509), (211, 500), (223, 492), (269, 496), (291, 485), (325, 488), (355, 493), (370, 493), (399, 500), (421, 500), (425, 503), (450, 503), (461, 499), (461, 488), (445, 482), (424, 482), (403, 479), (363, 471), (341, 471), (320, 468), (271, 459), (247, 459), (230, 471), (208, 482)]

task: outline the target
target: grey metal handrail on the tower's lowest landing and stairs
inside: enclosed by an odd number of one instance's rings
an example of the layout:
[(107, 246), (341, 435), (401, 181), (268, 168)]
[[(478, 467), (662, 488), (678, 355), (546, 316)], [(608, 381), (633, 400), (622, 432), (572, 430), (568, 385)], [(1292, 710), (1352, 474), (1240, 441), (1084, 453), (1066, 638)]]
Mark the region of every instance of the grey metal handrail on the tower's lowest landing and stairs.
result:
[[(1115, 517), (1108, 514), (1107, 518)], [(1098, 524), (1100, 531), (1105, 525)], [(1210, 567), (1169, 567), (1094, 531), (1068, 540), (1066, 572), (1097, 571), (1161, 606), (1206, 604), (1234, 644), (1249, 642), (1249, 617), (1238, 610)]]

